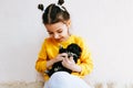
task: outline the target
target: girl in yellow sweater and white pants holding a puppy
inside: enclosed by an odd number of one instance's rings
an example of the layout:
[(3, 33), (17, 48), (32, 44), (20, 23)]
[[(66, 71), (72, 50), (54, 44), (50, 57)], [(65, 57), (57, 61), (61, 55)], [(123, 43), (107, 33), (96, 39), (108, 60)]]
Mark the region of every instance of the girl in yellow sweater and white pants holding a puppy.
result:
[[(50, 36), (42, 44), (35, 69), (44, 76), (44, 88), (91, 88), (82, 78), (93, 69), (92, 57), (83, 38), (70, 33), (70, 13), (62, 6), (63, 3), (63, 0), (59, 0), (58, 4), (51, 3), (42, 14), (43, 24)], [(42, 4), (38, 8), (43, 11)], [(73, 57), (68, 57), (66, 53), (59, 54), (60, 46), (65, 48), (72, 43), (78, 44), (82, 50), (78, 63)], [(72, 74), (58, 72), (49, 77), (47, 70), (57, 62), (62, 62)]]

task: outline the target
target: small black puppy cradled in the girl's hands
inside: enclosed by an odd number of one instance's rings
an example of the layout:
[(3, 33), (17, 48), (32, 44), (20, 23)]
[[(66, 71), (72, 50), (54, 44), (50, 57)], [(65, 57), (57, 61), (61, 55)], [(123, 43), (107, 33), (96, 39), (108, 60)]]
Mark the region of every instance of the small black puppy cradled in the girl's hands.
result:
[[(80, 58), (81, 56), (81, 47), (78, 44), (70, 44), (66, 48), (60, 47), (59, 53), (66, 53), (68, 57), (73, 56), (74, 62), (78, 62), (78, 58)], [(72, 73), (71, 69), (68, 69), (65, 67), (62, 66), (62, 62), (58, 62), (55, 64), (53, 64), (52, 68), (50, 70), (47, 72), (47, 74), (49, 76), (51, 76), (53, 73), (55, 72), (68, 72), (68, 73)]]

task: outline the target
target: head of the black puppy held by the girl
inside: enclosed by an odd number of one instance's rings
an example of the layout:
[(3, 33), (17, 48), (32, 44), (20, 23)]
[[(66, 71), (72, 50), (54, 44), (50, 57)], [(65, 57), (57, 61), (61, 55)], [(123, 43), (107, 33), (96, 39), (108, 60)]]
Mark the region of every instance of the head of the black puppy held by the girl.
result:
[(73, 56), (75, 62), (81, 56), (81, 47), (75, 43), (70, 44), (66, 48), (61, 47), (59, 50), (59, 53), (68, 53), (69, 57)]

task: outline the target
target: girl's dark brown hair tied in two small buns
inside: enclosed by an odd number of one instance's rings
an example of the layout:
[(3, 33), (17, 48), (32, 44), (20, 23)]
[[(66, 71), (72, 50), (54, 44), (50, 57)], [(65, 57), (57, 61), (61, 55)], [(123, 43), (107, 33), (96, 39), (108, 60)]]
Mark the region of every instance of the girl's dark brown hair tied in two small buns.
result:
[[(64, 3), (64, 0), (59, 0), (58, 4), (51, 3), (47, 7), (42, 14), (42, 21), (44, 24), (53, 24), (57, 22), (63, 22), (65, 23), (68, 20), (70, 20), (70, 13), (66, 11), (66, 9), (62, 6)], [(43, 4), (39, 4), (38, 9), (43, 11)]]

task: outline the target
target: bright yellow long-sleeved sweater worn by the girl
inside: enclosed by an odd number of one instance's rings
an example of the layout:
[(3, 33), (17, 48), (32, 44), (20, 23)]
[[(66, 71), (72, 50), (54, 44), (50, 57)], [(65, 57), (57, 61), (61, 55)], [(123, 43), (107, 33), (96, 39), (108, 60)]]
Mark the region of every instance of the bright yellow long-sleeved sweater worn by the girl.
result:
[(60, 45), (66, 47), (71, 43), (76, 43), (82, 50), (81, 57), (76, 63), (79, 66), (82, 67), (82, 72), (72, 73), (72, 75), (84, 77), (85, 75), (92, 72), (93, 62), (92, 62), (91, 53), (86, 47), (82, 37), (71, 35), (65, 42), (61, 42), (61, 43), (58, 43), (54, 40), (48, 37), (44, 40), (41, 51), (38, 55), (38, 61), (35, 62), (35, 69), (44, 75), (44, 80), (49, 79), (49, 76), (44, 74), (44, 72), (47, 70), (47, 61), (52, 59), (58, 55)]

